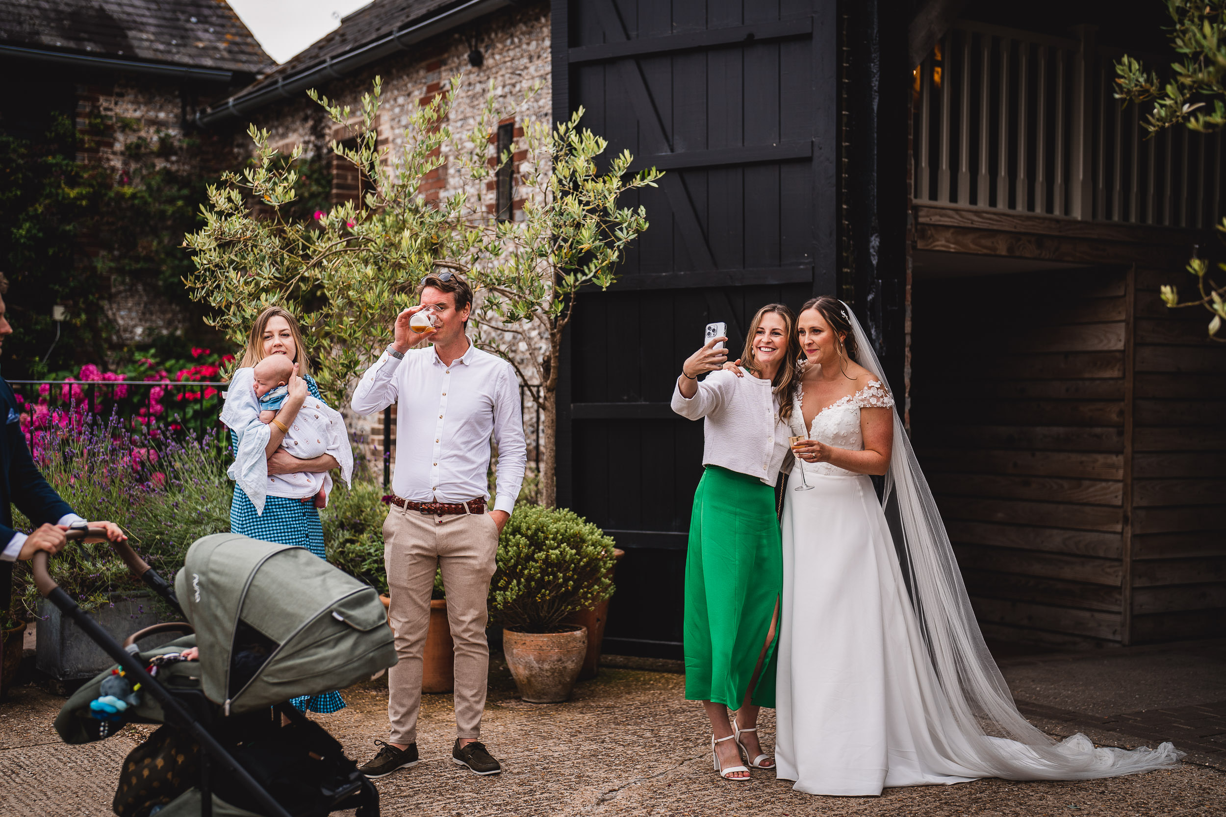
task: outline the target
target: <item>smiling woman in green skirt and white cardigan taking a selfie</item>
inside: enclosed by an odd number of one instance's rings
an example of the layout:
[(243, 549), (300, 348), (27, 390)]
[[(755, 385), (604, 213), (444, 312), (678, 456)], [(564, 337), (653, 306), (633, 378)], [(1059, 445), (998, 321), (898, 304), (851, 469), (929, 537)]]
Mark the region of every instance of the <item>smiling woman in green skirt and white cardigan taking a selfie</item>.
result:
[[(782, 304), (758, 310), (742, 359), (722, 371), (727, 338), (711, 338), (682, 366), (673, 410), (704, 418), (702, 479), (685, 559), (685, 698), (711, 719), (715, 769), (748, 780), (741, 764), (774, 768), (758, 742), (758, 708), (775, 706), (775, 631), (783, 587), (775, 483), (788, 450), (798, 356)], [(741, 363), (739, 360), (737, 361)], [(707, 375), (701, 382), (699, 376)], [(728, 723), (728, 709), (737, 717)]]

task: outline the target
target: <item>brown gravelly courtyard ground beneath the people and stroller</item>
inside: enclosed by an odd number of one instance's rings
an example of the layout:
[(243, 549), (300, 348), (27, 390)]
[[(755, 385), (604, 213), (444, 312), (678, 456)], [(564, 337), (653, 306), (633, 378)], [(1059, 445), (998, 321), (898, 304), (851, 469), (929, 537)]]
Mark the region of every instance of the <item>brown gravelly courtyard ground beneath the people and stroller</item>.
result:
[[(1226, 642), (1134, 650), (1019, 657), (1002, 661), (1027, 717), (1054, 735), (1086, 731), (1114, 746), (1175, 737), (1193, 750), (1177, 769), (1076, 783), (977, 780), (889, 789), (880, 797), (814, 797), (769, 773), (749, 784), (711, 770), (698, 707), (667, 663), (612, 660), (564, 704), (515, 697), (495, 661), (484, 731), (506, 772), (477, 778), (450, 759), (455, 735), (447, 696), (427, 696), (423, 763), (379, 781), (385, 815), (954, 815), (1167, 816), (1226, 813), (1226, 745), (1215, 742), (1226, 701)], [(386, 735), (386, 687), (346, 691), (349, 707), (320, 715), (351, 756), (364, 759)], [(119, 763), (148, 728), (128, 728), (87, 746), (58, 742), (50, 721), (61, 698), (36, 687), (0, 704), (0, 815), (109, 815)], [(1117, 714), (1118, 713), (1118, 714)], [(1204, 715), (1204, 717), (1200, 717)], [(772, 744), (774, 719), (763, 718)], [(1183, 729), (1176, 732), (1176, 729)], [(1195, 744), (1195, 746), (1194, 746)], [(1220, 748), (1221, 747), (1221, 748)], [(1216, 751), (1210, 751), (1216, 750)]]

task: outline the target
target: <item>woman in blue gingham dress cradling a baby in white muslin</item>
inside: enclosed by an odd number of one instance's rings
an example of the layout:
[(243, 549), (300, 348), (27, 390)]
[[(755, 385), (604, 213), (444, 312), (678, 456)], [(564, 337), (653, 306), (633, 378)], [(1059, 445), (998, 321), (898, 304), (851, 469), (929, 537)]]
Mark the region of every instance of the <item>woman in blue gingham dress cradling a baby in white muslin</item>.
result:
[[(348, 483), (353, 453), (343, 420), (324, 403), (309, 369), (297, 318), (270, 306), (251, 327), (221, 419), (235, 456), (230, 532), (324, 559), (319, 508), (332, 488), (327, 472), (340, 468)], [(338, 692), (293, 703), (320, 713), (345, 707)]]

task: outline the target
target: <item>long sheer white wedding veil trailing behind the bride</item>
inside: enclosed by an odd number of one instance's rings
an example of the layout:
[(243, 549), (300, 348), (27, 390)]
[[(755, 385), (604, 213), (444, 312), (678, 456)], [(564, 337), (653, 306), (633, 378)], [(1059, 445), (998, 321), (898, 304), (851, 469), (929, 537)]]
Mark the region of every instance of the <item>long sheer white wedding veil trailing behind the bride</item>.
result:
[[(841, 303), (841, 301), (840, 301)], [(857, 363), (889, 388), (873, 345), (851, 307)], [(1081, 734), (1057, 742), (1018, 712), (975, 620), (937, 502), (920, 469), (902, 419), (894, 412), (894, 448), (881, 505), (897, 508), (896, 550), (935, 681), (948, 703), (929, 713), (946, 752), (984, 777), (1013, 780), (1107, 778), (1171, 767), (1183, 757), (1171, 744), (1133, 751), (1095, 747)], [(890, 508), (893, 510), (893, 508)], [(949, 723), (949, 721), (953, 723)], [(935, 721), (935, 723), (934, 723)]]

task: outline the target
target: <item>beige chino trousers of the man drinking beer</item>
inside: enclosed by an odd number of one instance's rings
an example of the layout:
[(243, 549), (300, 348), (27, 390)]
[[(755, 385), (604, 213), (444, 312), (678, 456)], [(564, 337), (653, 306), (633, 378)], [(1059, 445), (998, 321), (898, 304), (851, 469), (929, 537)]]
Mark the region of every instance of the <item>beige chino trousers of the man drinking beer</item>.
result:
[(417, 742), (422, 707), (422, 653), (430, 626), (435, 566), (443, 571), (447, 623), (455, 641), (455, 709), (459, 737), (481, 737), (489, 677), (485, 599), (494, 576), (498, 525), (485, 513), (427, 516), (391, 506), (384, 522), (389, 619), (400, 661), (387, 670), (392, 744)]

